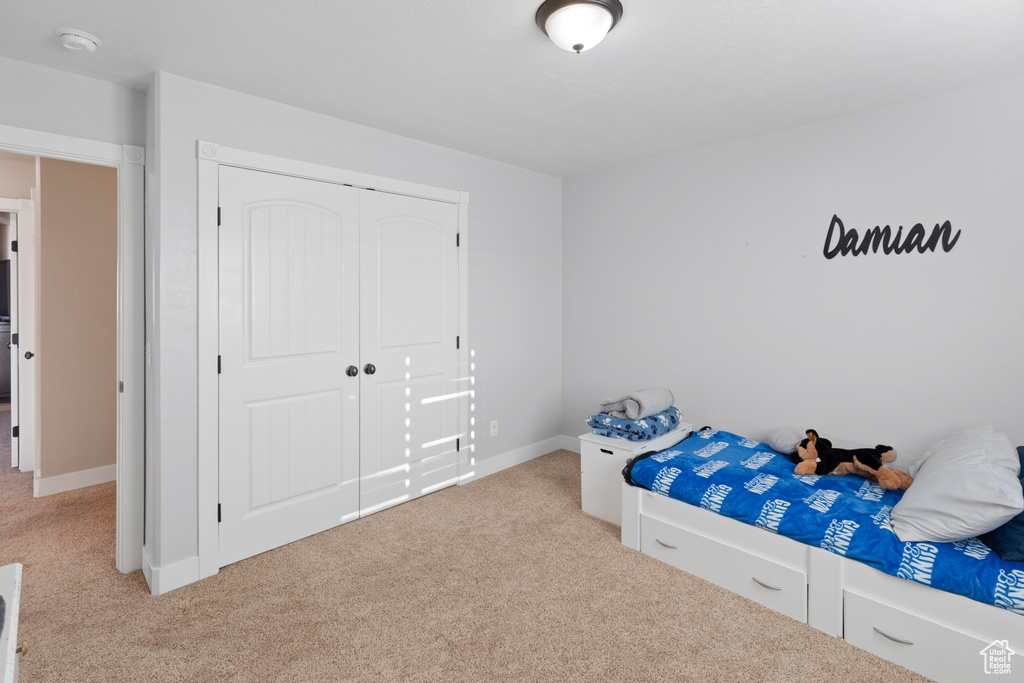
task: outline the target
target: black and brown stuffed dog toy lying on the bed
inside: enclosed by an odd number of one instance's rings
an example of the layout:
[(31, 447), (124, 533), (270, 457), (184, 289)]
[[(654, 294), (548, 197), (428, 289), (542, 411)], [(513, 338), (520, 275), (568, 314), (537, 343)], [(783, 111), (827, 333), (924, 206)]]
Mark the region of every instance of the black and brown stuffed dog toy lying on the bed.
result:
[(877, 482), (883, 488), (906, 490), (913, 477), (906, 472), (891, 470), (887, 463), (896, 460), (891, 446), (879, 444), (873, 449), (835, 449), (831, 441), (807, 430), (807, 438), (797, 446), (801, 462), (797, 474), (859, 474)]

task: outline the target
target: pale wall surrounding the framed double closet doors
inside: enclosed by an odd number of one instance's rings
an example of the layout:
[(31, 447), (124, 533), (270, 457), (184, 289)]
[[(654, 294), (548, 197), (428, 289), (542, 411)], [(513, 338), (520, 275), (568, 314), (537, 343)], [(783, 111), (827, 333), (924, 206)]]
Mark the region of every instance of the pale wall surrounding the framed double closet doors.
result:
[(158, 75), (147, 101), (157, 424), (146, 544), (156, 565), (197, 554), (197, 139), (469, 191), (474, 415), (477, 425), (501, 421), (496, 438), (477, 430), (475, 456), (560, 433), (559, 179), (170, 74)]

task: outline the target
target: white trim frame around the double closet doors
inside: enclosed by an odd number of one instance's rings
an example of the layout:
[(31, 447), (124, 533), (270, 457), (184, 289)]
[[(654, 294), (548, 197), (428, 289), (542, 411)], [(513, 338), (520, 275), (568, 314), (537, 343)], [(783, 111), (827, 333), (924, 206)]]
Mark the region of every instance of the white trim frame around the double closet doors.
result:
[(466, 483), (476, 476), (473, 451), (475, 445), (469, 438), (469, 407), (475, 394), (470, 372), (471, 351), (469, 344), (469, 193), (440, 187), (432, 187), (404, 180), (384, 178), (368, 173), (348, 171), (286, 159), (270, 155), (237, 150), (206, 140), (196, 141), (198, 168), (199, 211), (199, 578), (212, 577), (220, 570), (220, 540), (217, 522), (218, 461), (219, 461), (219, 398), (217, 380), (218, 354), (218, 246), (217, 214), (219, 196), (219, 175), (221, 166), (234, 166), (254, 171), (265, 171), (291, 175), (298, 178), (351, 185), (357, 188), (376, 189), (418, 197), (420, 199), (446, 202), (459, 207), (459, 337), (458, 380), (462, 390), (458, 392), (457, 413), (461, 447), (457, 458), (459, 483)]

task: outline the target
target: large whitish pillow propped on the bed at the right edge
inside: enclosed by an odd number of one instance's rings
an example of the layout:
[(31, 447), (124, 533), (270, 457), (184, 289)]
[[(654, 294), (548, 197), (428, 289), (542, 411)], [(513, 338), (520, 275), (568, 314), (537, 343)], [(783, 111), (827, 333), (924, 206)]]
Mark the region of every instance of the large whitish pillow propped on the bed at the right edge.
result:
[(961, 541), (1001, 526), (1024, 510), (1020, 460), (990, 425), (945, 438), (925, 454), (892, 511), (900, 541)]

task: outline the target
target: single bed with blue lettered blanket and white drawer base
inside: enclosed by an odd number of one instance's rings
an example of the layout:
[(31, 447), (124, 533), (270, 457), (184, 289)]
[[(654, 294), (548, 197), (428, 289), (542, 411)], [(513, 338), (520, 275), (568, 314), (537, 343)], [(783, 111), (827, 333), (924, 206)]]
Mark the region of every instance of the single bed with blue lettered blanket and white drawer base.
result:
[(1024, 672), (1024, 563), (976, 540), (901, 543), (900, 492), (797, 477), (766, 444), (713, 430), (628, 470), (625, 545), (939, 681)]

